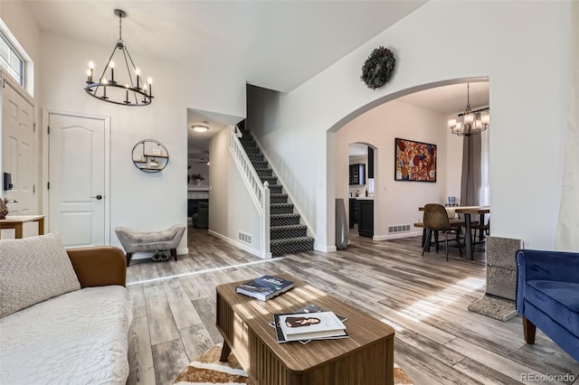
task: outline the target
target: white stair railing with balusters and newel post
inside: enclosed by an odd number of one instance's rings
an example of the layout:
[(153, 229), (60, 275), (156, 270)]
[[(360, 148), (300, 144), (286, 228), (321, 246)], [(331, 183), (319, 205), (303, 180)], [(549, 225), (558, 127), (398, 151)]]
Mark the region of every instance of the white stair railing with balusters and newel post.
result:
[(233, 160), (242, 174), (242, 179), (247, 186), (252, 201), (261, 216), (261, 258), (271, 258), (270, 248), (270, 188), (269, 183), (261, 183), (260, 176), (256, 173), (252, 161), (245, 153), (242, 142), (239, 138), (242, 133), (237, 126), (230, 126), (229, 149), (232, 152)]

